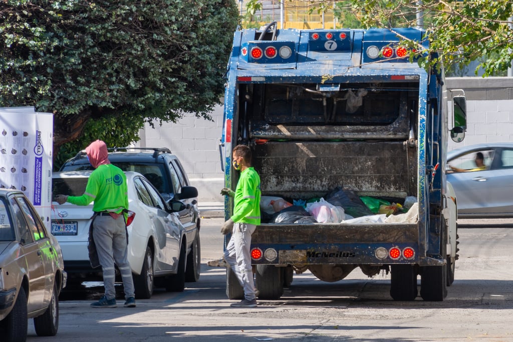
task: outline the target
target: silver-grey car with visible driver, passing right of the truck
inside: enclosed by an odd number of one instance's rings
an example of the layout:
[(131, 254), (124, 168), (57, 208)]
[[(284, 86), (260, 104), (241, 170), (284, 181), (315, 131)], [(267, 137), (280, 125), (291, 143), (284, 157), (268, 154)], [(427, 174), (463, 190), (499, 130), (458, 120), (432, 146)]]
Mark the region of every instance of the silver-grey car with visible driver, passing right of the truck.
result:
[[(484, 158), (483, 167), (476, 164), (479, 154)], [(513, 143), (454, 149), (447, 154), (447, 164), (447, 181), (456, 193), (458, 218), (513, 217)]]

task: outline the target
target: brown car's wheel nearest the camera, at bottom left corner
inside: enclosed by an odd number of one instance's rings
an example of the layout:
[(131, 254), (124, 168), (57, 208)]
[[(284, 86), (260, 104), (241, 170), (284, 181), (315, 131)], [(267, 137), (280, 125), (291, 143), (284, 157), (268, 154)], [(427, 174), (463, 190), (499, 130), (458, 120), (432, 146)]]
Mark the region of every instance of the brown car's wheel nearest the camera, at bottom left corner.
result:
[(11, 312), (0, 321), (0, 336), (6, 342), (24, 341), (27, 339), (27, 327), (27, 296), (21, 287)]

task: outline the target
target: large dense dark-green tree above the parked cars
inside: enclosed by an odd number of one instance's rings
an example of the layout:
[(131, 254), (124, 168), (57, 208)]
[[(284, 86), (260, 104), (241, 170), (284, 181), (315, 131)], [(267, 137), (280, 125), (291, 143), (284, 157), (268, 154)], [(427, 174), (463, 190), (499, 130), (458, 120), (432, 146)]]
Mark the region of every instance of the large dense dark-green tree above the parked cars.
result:
[(0, 103), (53, 112), (54, 156), (90, 120), (133, 141), (145, 120), (210, 119), (237, 22), (233, 0), (4, 0)]

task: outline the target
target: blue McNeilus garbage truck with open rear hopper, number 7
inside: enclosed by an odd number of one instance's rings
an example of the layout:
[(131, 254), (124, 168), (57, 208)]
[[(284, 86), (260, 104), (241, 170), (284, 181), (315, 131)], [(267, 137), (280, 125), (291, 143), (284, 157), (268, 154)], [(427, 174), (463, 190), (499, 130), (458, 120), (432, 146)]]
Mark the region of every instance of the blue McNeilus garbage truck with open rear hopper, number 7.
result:
[[(447, 140), (463, 140), (466, 108), (464, 93), (446, 89), (440, 59), (428, 48), (426, 32), (416, 28), (270, 23), (234, 32), (220, 142), (225, 186), (236, 187), (231, 152), (244, 144), (263, 199), (305, 208), (331, 198), (345, 213), (330, 222), (269, 221), (261, 203), (251, 241), (259, 298), (280, 298), (294, 274), (335, 282), (357, 268), (368, 277), (389, 275), (393, 300), (415, 300), (419, 287), (423, 300), (446, 297), (458, 258)], [(420, 59), (433, 63), (421, 67)], [(374, 221), (364, 197), (416, 204)], [(226, 219), (232, 211), (226, 196)], [(244, 295), (230, 268), (226, 293)]]

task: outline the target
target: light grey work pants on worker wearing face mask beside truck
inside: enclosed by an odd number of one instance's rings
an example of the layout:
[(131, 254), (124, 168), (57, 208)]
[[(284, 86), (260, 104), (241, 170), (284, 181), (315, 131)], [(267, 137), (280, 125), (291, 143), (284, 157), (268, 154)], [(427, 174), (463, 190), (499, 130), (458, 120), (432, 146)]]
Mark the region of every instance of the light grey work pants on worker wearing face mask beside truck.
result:
[(257, 229), (254, 224), (235, 223), (231, 233), (230, 241), (226, 246), (225, 260), (231, 266), (231, 270), (239, 279), (239, 283), (244, 288), (244, 298), (247, 300), (255, 299), (255, 290), (253, 282), (253, 271), (251, 269), (251, 234)]

